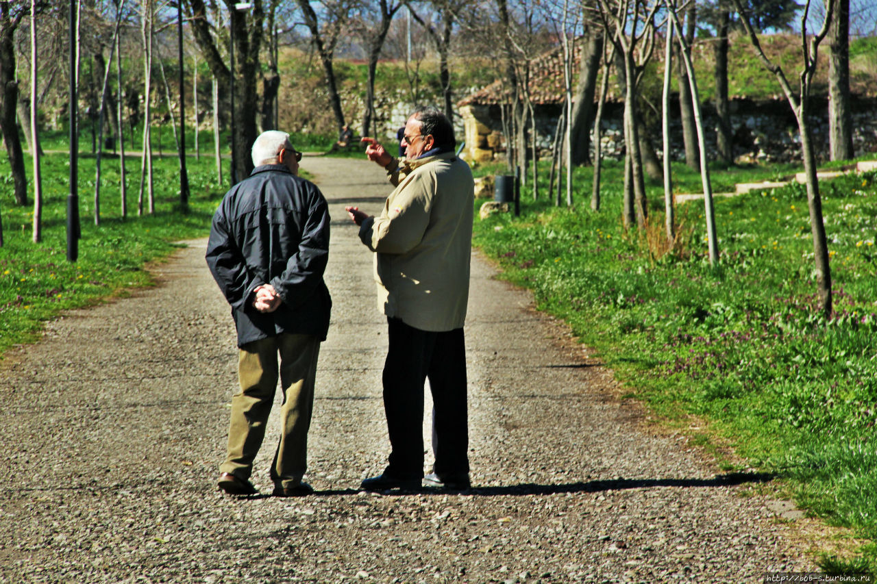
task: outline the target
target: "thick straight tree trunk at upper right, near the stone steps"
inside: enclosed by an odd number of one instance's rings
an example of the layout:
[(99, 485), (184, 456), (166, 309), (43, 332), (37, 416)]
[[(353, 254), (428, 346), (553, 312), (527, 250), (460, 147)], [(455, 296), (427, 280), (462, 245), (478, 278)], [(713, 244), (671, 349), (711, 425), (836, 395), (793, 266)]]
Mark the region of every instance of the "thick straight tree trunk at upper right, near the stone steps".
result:
[(855, 156), (850, 108), (850, 0), (836, 0), (834, 3), (828, 43), (831, 160), (848, 160)]

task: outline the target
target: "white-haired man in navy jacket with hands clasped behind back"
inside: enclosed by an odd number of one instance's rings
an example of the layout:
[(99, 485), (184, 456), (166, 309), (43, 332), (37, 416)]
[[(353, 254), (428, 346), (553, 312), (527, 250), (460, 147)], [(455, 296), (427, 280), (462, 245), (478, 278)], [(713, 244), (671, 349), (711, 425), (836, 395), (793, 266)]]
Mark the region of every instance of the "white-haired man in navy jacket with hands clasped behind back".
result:
[(219, 488), (253, 495), (249, 481), (274, 402), (280, 355), (281, 438), (271, 465), (274, 495), (313, 492), (302, 481), (320, 342), (332, 299), (323, 281), (329, 212), (323, 194), (297, 176), (302, 153), (289, 134), (253, 143), (253, 174), (229, 190), (213, 217), (207, 265), (232, 305), (239, 392), (232, 396), (228, 452)]

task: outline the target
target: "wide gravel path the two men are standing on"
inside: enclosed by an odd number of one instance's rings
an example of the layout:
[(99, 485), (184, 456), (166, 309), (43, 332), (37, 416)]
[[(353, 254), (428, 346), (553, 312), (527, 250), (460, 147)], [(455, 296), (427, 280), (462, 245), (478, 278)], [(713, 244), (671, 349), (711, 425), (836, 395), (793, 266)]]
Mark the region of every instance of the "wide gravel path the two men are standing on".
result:
[[(343, 206), (377, 211), (389, 189), (365, 161), (303, 167), (334, 217), (306, 475), (317, 494), (217, 491), (236, 350), (205, 241), (189, 242), (155, 269), (158, 286), (69, 313), (0, 366), (0, 581), (754, 582), (812, 569), (795, 524), (743, 496), (758, 477), (717, 476), (683, 438), (648, 430), (610, 372), (477, 254), (475, 488), (357, 492), (389, 448), (386, 322)], [(267, 493), (276, 432), (272, 419), (253, 474)]]

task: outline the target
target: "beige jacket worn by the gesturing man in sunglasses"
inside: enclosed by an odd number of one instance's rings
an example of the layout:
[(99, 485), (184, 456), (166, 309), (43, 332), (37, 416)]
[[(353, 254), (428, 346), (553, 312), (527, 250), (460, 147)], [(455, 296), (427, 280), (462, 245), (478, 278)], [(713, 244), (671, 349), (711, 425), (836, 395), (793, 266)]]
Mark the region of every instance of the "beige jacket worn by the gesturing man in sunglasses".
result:
[(469, 296), (474, 181), (453, 152), (388, 166), (396, 185), (360, 227), (374, 254), (378, 305), (422, 331), (463, 326)]

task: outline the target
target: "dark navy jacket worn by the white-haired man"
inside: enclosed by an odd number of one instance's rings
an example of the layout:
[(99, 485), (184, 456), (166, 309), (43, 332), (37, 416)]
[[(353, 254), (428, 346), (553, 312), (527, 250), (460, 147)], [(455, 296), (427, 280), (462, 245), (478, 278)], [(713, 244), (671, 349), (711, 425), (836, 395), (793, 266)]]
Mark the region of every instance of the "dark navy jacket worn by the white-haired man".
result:
[[(281, 332), (325, 339), (332, 299), (323, 281), (329, 257), (329, 210), (317, 187), (282, 164), (253, 169), (219, 204), (207, 266), (232, 305), (238, 345)], [(283, 302), (253, 308), (253, 289), (271, 284)]]

